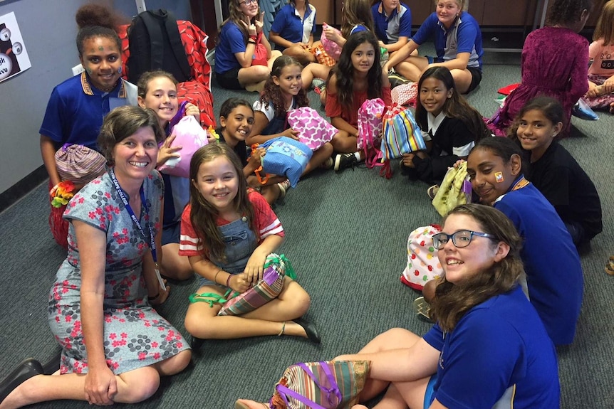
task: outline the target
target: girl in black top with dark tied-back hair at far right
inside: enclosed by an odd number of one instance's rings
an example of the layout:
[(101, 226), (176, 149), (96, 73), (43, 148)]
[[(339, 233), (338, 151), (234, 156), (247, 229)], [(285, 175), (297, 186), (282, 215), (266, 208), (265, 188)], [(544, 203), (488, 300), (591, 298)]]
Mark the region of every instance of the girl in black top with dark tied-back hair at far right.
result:
[(546, 196), (576, 246), (603, 229), (597, 189), (576, 159), (554, 139), (563, 129), (563, 106), (551, 97), (536, 97), (516, 117), (516, 139), (529, 152), (526, 179)]

